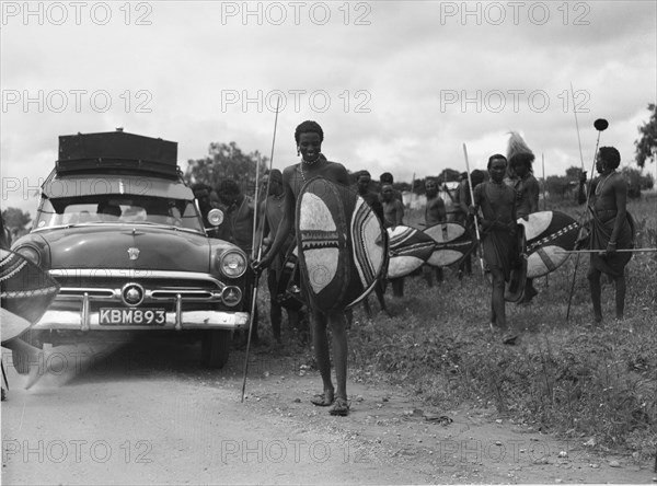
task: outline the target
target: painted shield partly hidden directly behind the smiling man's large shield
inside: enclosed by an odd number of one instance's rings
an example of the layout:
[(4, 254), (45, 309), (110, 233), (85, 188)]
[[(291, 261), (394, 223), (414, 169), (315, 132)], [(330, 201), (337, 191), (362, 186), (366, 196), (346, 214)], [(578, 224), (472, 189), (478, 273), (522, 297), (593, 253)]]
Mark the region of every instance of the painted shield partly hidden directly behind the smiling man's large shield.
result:
[(415, 228), (400, 224), (388, 229), (390, 240), (390, 264), (388, 278), (400, 278), (424, 265), (434, 253), (436, 242), (431, 236)]

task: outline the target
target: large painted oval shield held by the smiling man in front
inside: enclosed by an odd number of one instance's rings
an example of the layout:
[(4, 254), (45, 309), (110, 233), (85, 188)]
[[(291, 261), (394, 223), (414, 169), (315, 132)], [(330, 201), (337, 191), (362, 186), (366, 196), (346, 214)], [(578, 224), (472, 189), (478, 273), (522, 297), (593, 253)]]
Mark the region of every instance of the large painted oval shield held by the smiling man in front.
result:
[(388, 262), (387, 234), (371, 208), (348, 187), (315, 177), (299, 193), (296, 221), (310, 303), (327, 312), (362, 300)]

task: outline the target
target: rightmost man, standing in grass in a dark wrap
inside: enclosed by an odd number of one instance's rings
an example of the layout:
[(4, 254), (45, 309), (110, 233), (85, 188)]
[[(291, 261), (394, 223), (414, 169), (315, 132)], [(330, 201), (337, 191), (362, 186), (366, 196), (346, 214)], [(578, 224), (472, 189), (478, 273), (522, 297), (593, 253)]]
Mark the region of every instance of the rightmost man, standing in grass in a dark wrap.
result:
[(609, 275), (615, 282), (616, 319), (623, 319), (625, 308), (625, 266), (632, 258), (632, 253), (618, 253), (616, 250), (634, 247), (634, 224), (625, 208), (627, 184), (616, 172), (620, 163), (621, 154), (615, 148), (601, 147), (596, 160), (596, 170), (600, 176), (592, 182), (590, 188), (589, 248), (601, 251), (591, 254), (588, 271), (596, 323), (602, 321), (601, 274)]

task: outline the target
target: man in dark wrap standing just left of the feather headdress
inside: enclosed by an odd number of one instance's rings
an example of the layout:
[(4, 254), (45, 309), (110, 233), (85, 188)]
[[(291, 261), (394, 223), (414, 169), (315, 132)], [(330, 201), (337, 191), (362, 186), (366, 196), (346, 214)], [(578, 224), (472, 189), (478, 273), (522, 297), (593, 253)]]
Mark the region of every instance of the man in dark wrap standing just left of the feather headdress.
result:
[(482, 210), (482, 246), (493, 277), (491, 328), (507, 331), (504, 289), (518, 261), (516, 192), (504, 183), (507, 160), (502, 154), (488, 159), (491, 181), (474, 188), (472, 212)]

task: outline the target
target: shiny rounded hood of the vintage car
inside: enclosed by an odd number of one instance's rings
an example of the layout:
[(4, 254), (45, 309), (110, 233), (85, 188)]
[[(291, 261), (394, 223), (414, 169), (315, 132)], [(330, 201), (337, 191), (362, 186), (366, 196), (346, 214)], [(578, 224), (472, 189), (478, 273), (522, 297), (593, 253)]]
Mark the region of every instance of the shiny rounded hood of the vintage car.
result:
[(50, 247), (53, 269), (148, 268), (210, 271), (210, 243), (169, 228), (93, 224), (38, 232)]

